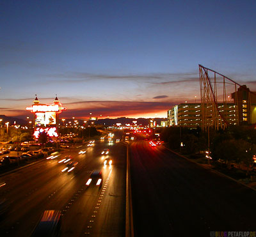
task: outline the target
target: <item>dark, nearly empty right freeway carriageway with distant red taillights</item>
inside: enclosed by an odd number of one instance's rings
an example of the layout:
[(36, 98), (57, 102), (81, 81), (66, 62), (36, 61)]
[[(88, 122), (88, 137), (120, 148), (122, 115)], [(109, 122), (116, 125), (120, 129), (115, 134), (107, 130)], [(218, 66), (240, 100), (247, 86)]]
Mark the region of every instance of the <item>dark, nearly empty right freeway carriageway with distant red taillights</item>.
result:
[(256, 192), (148, 141), (131, 142), (134, 236), (255, 231)]

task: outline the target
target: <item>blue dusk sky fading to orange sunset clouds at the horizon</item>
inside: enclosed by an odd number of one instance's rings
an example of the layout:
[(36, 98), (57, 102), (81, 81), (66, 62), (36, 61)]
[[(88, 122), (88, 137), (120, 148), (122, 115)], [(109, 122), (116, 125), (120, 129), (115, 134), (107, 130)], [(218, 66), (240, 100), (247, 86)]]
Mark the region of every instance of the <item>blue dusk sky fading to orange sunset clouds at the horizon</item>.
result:
[(35, 94), (64, 118), (166, 117), (200, 101), (198, 64), (256, 90), (256, 1), (0, 3), (0, 114)]

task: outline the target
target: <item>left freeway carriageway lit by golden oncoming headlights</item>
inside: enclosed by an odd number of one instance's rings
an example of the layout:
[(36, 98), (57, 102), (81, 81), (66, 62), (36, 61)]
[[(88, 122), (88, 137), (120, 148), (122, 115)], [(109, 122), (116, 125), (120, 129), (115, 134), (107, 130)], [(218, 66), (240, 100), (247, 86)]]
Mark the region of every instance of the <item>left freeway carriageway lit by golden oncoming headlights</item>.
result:
[[(79, 155), (82, 148), (87, 152)], [(106, 167), (105, 148), (113, 160)], [(71, 172), (61, 172), (65, 164), (58, 162), (65, 155), (78, 162)], [(94, 169), (102, 169), (100, 188), (85, 185)], [(61, 236), (124, 236), (125, 175), (126, 147), (106, 140), (2, 175), (0, 197), (10, 201), (10, 210), (0, 220), (0, 236), (30, 236), (44, 210), (61, 210)]]

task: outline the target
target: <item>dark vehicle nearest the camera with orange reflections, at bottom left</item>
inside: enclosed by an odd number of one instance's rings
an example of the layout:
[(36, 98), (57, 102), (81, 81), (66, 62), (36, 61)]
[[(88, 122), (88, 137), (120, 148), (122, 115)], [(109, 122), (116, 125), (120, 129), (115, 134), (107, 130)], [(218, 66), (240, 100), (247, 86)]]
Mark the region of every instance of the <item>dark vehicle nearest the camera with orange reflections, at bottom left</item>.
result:
[(31, 236), (60, 236), (61, 234), (61, 211), (44, 211), (40, 222), (35, 227)]

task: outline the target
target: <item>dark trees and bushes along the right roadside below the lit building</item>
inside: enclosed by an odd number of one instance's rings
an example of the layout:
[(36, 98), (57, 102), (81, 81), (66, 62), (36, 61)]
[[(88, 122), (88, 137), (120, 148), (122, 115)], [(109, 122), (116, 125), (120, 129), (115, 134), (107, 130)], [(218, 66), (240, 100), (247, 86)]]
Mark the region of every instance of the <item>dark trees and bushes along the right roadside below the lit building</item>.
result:
[[(210, 128), (209, 141), (208, 131), (202, 132), (201, 128), (176, 126), (159, 128), (158, 132), (168, 148), (198, 163), (211, 163), (213, 169), (238, 180), (255, 174), (256, 130), (252, 126), (229, 126), (225, 130)], [(208, 146), (210, 160), (205, 157)]]

